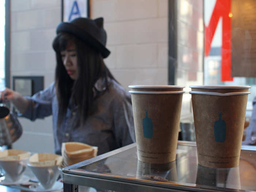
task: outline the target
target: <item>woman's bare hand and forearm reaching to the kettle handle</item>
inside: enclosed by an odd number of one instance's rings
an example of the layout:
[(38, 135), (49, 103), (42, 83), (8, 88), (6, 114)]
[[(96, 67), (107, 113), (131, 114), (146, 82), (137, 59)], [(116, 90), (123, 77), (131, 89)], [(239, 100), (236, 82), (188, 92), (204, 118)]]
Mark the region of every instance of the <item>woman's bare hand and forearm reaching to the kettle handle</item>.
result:
[(24, 113), (29, 106), (29, 99), (8, 88), (1, 92), (1, 99), (3, 102), (12, 102), (20, 113)]

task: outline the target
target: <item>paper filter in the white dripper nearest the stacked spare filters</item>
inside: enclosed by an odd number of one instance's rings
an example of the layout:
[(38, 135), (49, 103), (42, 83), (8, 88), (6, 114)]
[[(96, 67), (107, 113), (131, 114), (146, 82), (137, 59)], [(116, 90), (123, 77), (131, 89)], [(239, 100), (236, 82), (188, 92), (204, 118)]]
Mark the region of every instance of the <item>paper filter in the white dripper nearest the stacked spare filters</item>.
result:
[(29, 158), (29, 163), (33, 166), (61, 165), (62, 161), (63, 157), (51, 153), (36, 153)]

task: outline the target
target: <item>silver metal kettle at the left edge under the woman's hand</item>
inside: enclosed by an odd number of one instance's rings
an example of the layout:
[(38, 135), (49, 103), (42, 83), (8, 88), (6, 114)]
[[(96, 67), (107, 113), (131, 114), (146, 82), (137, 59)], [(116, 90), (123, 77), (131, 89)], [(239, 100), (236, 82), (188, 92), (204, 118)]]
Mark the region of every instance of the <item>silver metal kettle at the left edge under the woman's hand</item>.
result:
[(11, 145), (22, 135), (18, 118), (0, 99), (0, 146)]

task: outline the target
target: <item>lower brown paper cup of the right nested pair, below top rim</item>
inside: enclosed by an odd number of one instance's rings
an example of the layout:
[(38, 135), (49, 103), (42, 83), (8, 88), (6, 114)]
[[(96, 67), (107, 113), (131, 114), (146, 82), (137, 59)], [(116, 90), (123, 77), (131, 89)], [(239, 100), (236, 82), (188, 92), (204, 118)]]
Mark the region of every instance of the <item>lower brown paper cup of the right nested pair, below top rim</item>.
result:
[(199, 165), (239, 165), (245, 112), (250, 92), (190, 91)]

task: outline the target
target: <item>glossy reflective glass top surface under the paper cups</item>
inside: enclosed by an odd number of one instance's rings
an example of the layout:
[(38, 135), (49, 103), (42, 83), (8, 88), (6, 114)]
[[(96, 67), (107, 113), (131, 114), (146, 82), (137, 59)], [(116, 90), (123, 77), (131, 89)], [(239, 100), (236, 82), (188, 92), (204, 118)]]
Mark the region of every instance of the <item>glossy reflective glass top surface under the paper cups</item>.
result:
[(171, 189), (256, 191), (256, 151), (252, 146), (242, 146), (239, 166), (229, 169), (198, 165), (195, 142), (178, 142), (176, 161), (170, 163), (140, 162), (136, 144), (131, 144), (109, 157), (98, 156), (94, 162), (83, 161), (67, 170), (70, 174)]

